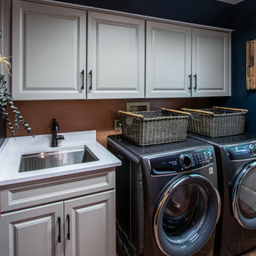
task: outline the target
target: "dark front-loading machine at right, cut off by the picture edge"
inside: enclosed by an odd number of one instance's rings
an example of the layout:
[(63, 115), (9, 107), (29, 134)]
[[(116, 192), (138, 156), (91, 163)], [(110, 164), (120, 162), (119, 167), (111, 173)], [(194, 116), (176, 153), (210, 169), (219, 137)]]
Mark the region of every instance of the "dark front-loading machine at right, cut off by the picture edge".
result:
[(242, 255), (256, 248), (256, 134), (210, 138), (218, 164), (222, 212), (217, 225), (215, 255)]

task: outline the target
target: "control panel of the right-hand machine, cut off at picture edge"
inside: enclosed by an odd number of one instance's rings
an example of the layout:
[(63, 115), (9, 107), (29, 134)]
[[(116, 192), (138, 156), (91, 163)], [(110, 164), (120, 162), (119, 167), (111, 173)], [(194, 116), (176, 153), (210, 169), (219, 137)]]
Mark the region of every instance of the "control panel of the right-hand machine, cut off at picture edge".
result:
[(256, 142), (227, 146), (230, 161), (246, 160), (256, 157)]

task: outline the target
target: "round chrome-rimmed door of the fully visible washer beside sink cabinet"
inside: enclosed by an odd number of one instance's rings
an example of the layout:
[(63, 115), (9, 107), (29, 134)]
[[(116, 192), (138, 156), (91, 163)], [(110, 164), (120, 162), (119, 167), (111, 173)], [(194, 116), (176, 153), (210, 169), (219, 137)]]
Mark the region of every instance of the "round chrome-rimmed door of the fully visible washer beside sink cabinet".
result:
[(208, 178), (184, 175), (164, 191), (154, 215), (154, 235), (165, 255), (187, 256), (210, 238), (220, 216), (220, 195)]

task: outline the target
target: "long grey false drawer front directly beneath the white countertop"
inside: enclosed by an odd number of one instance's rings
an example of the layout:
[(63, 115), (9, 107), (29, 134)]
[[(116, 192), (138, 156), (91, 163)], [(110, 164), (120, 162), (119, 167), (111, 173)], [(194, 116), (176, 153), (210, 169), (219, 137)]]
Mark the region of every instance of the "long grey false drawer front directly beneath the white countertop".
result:
[(114, 175), (114, 171), (107, 171), (51, 183), (3, 189), (1, 191), (1, 212), (6, 213), (66, 198), (107, 191), (114, 188)]

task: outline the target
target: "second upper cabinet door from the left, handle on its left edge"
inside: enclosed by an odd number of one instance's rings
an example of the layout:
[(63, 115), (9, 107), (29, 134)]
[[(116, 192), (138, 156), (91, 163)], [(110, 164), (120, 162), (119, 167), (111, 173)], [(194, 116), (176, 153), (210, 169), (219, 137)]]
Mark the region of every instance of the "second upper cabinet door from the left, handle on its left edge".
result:
[(87, 98), (144, 97), (144, 20), (88, 12)]

